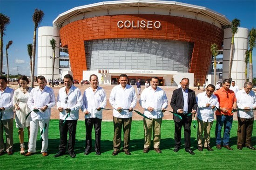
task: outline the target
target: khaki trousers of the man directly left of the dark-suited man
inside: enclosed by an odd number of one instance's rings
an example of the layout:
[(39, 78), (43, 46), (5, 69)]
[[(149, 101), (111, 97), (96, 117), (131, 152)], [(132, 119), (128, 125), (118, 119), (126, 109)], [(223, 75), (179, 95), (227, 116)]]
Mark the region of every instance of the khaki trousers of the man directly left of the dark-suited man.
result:
[(162, 118), (152, 118), (151, 120), (144, 118), (144, 148), (150, 148), (151, 135), (153, 129), (154, 148), (159, 148), (161, 139)]

